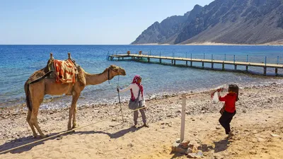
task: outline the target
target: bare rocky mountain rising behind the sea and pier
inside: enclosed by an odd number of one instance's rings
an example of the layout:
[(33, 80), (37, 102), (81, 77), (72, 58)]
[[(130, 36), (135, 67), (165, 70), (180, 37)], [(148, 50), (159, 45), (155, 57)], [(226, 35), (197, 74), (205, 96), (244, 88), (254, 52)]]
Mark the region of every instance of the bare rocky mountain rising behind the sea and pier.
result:
[(283, 0), (215, 0), (204, 7), (195, 6), (184, 16), (154, 23), (132, 44), (202, 42), (283, 42)]

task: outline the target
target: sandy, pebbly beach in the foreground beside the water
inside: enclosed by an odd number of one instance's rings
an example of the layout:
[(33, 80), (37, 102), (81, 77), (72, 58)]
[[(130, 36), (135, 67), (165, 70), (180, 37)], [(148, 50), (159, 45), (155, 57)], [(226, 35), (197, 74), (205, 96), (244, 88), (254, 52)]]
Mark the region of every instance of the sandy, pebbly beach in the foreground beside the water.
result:
[[(224, 93), (222, 93), (224, 94)], [(237, 114), (231, 122), (236, 133), (227, 139), (219, 125), (222, 103), (212, 104), (210, 91), (187, 93), (185, 140), (197, 142), (202, 158), (283, 158), (283, 86), (241, 88)], [(146, 101), (149, 128), (132, 128), (132, 112), (120, 105), (79, 107), (75, 132), (47, 139), (0, 155), (0, 158), (187, 158), (171, 153), (180, 138), (181, 95), (166, 95)], [(25, 122), (26, 108), (1, 109), (0, 152), (22, 146), (33, 139)], [(38, 121), (50, 136), (67, 130), (69, 110), (40, 110)], [(100, 122), (103, 121), (103, 122)], [(118, 125), (117, 125), (118, 124)], [(113, 125), (117, 125), (112, 127)]]

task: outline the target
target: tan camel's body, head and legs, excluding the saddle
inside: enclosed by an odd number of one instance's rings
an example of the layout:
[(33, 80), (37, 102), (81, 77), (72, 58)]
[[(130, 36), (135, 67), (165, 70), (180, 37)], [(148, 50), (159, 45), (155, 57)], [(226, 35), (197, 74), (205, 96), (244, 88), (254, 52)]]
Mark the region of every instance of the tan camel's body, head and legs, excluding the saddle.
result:
[[(33, 136), (35, 138), (47, 137), (40, 130), (40, 126), (37, 123), (37, 114), (40, 107), (40, 104), (45, 95), (72, 95), (71, 107), (69, 109), (69, 122), (68, 130), (74, 129), (76, 127), (76, 102), (81, 95), (81, 91), (88, 85), (98, 85), (104, 81), (111, 80), (114, 76), (122, 75), (125, 76), (126, 72), (119, 66), (111, 65), (106, 68), (103, 73), (91, 74), (84, 71), (79, 67), (79, 78), (74, 83), (55, 83), (54, 78), (45, 78), (49, 74), (54, 73), (52, 71), (47, 71), (47, 66), (44, 69), (35, 71), (33, 75), (28, 78), (28, 81), (25, 82), (25, 95), (26, 95), (26, 104), (28, 107), (28, 116), (26, 121), (30, 125), (31, 130), (33, 131)], [(73, 126), (71, 126), (71, 119), (73, 119)], [(35, 132), (35, 128), (39, 132), (40, 136)]]

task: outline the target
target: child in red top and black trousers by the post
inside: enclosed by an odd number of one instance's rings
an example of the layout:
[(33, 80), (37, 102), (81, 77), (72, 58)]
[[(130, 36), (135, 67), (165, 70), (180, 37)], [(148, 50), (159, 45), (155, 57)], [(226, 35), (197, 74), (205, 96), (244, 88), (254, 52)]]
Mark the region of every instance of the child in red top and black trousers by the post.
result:
[[(224, 88), (219, 88), (214, 91), (220, 92)], [(225, 102), (223, 108), (221, 109), (221, 117), (219, 118), (219, 123), (224, 127), (226, 134), (233, 136), (230, 129), (230, 122), (233, 119), (233, 116), (236, 114), (236, 101), (238, 101), (238, 86), (235, 84), (229, 85), (228, 94), (224, 97), (219, 95), (219, 101)]]

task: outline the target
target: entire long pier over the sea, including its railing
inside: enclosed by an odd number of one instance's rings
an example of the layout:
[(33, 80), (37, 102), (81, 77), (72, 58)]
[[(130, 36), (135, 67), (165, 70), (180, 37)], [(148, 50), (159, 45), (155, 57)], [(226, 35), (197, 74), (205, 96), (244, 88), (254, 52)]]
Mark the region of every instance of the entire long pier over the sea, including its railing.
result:
[[(237, 66), (246, 66), (246, 72), (250, 66), (255, 67), (262, 67), (263, 74), (267, 75), (267, 69), (275, 69), (275, 75), (278, 76), (278, 69), (283, 69), (283, 60), (282, 57), (266, 57), (262, 55), (258, 56), (250, 56), (249, 54), (246, 55), (235, 55), (235, 54), (175, 54), (172, 52), (166, 54), (153, 54), (152, 52), (147, 52), (147, 54), (112, 54), (108, 56), (108, 59), (120, 59), (124, 60), (125, 58), (131, 57), (132, 60), (141, 59), (147, 60), (148, 62), (151, 61), (159, 61), (159, 63), (163, 63), (162, 61), (171, 61), (171, 64), (184, 64), (182, 61), (185, 61), (186, 66), (194, 66), (194, 67), (201, 67), (202, 69), (207, 68), (207, 64), (211, 64), (211, 69), (216, 69), (214, 64), (221, 64), (222, 70), (225, 70), (225, 65), (233, 65), (234, 70), (237, 70)], [(177, 63), (176, 63), (177, 61)], [(190, 64), (189, 64), (190, 62)], [(195, 64), (196, 63), (196, 64)], [(204, 65), (206, 64), (206, 65)], [(210, 66), (209, 66), (210, 67)], [(219, 67), (219, 66), (217, 66)], [(229, 67), (231, 68), (231, 67)]]

